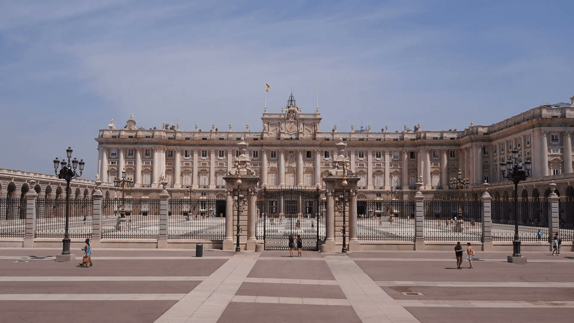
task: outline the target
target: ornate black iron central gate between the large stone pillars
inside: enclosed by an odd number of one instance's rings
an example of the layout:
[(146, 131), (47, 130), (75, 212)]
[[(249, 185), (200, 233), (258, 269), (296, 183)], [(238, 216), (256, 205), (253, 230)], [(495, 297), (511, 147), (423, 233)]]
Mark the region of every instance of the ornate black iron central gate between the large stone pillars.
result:
[[(325, 231), (323, 203), (317, 190), (263, 190), (261, 222), (265, 250), (289, 250), (289, 235), (301, 236), (302, 250), (319, 250)], [(323, 234), (324, 235), (324, 234)]]

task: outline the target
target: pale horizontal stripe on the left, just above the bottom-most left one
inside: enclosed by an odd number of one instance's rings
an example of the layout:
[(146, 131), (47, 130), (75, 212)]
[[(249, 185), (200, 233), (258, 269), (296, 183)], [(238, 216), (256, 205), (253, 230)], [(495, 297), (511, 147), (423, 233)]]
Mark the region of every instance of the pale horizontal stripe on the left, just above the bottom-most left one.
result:
[(0, 276), (0, 282), (150, 282), (204, 280), (207, 276)]

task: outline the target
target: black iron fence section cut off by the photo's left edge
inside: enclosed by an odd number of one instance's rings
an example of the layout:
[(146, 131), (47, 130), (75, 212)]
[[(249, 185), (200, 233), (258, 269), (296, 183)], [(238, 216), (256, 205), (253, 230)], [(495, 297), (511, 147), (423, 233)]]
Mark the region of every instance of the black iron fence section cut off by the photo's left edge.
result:
[(26, 200), (0, 198), (0, 237), (23, 238), (26, 233)]

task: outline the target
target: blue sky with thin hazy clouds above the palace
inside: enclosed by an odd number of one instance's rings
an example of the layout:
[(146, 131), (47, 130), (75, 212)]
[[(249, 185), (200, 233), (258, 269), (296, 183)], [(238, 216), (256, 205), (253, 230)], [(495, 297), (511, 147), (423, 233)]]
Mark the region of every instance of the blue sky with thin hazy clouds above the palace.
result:
[(289, 92), (321, 129), (490, 125), (574, 95), (572, 1), (0, 2), (0, 167), (51, 173), (138, 126), (260, 130)]

